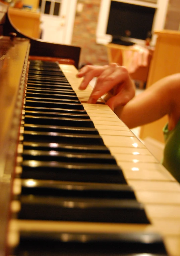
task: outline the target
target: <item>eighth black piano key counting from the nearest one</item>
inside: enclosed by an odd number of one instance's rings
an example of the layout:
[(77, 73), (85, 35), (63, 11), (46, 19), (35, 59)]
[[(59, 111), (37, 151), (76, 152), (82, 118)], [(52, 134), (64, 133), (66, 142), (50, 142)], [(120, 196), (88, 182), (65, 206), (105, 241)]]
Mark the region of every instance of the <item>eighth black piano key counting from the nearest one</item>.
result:
[(78, 134), (99, 134), (96, 128), (86, 127), (67, 127), (57, 125), (41, 125), (41, 124), (24, 124), (24, 131), (37, 132), (58, 132), (58, 133), (78, 133)]

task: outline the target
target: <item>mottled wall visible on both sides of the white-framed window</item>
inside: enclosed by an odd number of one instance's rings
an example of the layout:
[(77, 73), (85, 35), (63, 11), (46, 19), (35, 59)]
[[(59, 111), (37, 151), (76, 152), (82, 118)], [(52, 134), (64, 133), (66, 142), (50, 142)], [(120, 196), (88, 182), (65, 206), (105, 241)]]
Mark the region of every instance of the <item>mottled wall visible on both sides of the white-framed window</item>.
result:
[[(80, 46), (80, 64), (108, 64), (106, 47), (96, 44), (96, 26), (101, 0), (78, 0), (82, 12), (76, 12), (72, 44)], [(165, 29), (178, 30), (180, 24), (180, 0), (169, 0)]]

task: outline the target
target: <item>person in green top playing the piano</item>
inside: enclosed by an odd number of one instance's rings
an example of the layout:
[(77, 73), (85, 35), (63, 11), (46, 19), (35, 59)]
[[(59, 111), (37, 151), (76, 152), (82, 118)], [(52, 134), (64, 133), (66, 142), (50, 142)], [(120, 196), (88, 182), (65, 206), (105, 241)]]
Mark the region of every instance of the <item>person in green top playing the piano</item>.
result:
[(84, 66), (77, 77), (84, 77), (80, 90), (97, 77), (88, 103), (96, 103), (108, 93), (106, 104), (130, 129), (168, 115), (163, 129), (166, 145), (162, 164), (180, 183), (180, 73), (157, 81), (137, 96), (127, 69), (115, 63)]

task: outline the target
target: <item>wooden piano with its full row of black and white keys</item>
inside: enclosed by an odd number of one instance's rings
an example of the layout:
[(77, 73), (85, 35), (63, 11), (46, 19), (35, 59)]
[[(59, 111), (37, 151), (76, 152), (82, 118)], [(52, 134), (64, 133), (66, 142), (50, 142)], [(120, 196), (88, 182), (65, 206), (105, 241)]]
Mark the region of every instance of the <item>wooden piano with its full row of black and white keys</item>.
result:
[(4, 25), (0, 255), (179, 256), (180, 185), (107, 105), (86, 103), (79, 47)]

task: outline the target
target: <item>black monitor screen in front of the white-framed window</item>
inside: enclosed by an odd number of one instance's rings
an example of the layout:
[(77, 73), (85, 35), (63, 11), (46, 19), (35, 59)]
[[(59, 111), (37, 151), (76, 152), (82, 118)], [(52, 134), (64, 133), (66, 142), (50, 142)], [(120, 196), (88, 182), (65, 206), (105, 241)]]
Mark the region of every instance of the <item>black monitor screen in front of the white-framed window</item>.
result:
[(107, 34), (145, 40), (152, 31), (156, 8), (111, 1)]

